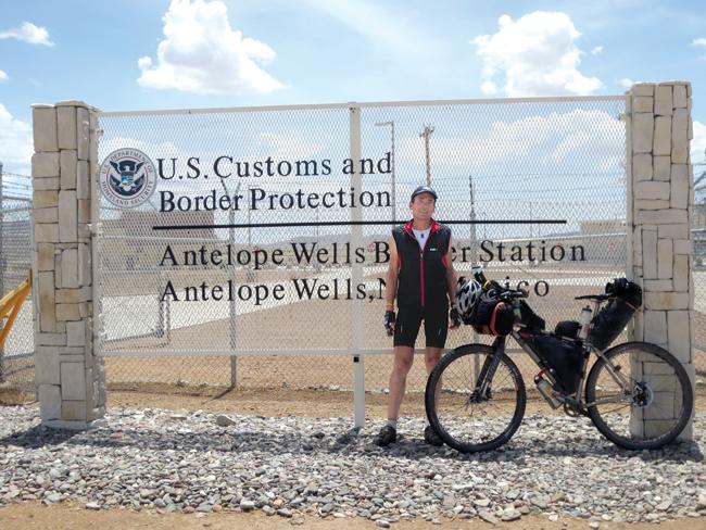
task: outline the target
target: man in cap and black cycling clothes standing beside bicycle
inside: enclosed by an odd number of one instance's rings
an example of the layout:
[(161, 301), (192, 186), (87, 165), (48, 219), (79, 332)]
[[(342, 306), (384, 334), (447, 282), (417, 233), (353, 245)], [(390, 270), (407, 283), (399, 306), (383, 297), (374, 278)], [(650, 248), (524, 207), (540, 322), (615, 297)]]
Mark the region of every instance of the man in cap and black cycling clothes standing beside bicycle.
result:
[[(414, 345), (424, 320), (427, 350), (425, 364), (431, 373), (441, 357), (446, 330), (461, 325), (455, 307), (449, 313), (449, 300), (456, 295), (456, 273), (451, 262), (451, 229), (437, 223), (432, 215), (437, 192), (419, 186), (412, 193), (412, 220), (392, 230), (390, 263), (387, 275), (384, 327), (394, 335), (394, 364), (390, 375), (388, 421), (376, 437), (378, 445), (389, 445), (398, 438), (398, 414), (404, 398), (407, 374), (414, 361)], [(398, 315), (394, 300), (398, 300)], [(449, 326), (449, 317), (451, 326)], [(427, 443), (442, 441), (427, 424)]]

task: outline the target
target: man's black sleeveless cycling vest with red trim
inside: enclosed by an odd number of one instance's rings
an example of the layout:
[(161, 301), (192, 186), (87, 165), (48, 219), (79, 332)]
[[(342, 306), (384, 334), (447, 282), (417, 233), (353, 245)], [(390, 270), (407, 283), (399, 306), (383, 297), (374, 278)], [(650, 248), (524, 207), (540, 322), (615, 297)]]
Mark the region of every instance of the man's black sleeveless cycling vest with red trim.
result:
[(432, 220), (424, 252), (412, 231), (412, 222), (395, 227), (392, 237), (398, 247), (398, 306), (445, 306), (451, 229)]

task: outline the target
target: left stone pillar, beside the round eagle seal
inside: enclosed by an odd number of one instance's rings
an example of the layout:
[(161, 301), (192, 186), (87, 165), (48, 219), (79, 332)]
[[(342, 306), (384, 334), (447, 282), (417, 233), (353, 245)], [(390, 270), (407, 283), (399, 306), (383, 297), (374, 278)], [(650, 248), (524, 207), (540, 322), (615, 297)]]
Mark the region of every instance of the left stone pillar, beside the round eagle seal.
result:
[(33, 122), (35, 383), (43, 425), (85, 429), (105, 411), (92, 333), (97, 111), (80, 101), (35, 105)]

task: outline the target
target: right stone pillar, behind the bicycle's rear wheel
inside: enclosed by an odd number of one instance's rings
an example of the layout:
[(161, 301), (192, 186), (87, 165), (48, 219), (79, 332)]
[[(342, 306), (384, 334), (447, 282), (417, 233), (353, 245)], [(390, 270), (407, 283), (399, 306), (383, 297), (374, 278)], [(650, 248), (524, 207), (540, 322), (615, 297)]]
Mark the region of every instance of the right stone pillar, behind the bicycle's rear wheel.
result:
[[(632, 225), (628, 230), (628, 249), (632, 249), (629, 274), (642, 286), (644, 302), (632, 338), (671, 352), (683, 364), (693, 388), (691, 84), (639, 84), (628, 96), (632, 122), (628, 141), (632, 177), (628, 193)], [(659, 371), (658, 367), (644, 367), (645, 374), (647, 369)], [(675, 400), (667, 395), (660, 399)], [(638, 431), (658, 430), (658, 421), (633, 418), (633, 426)], [(692, 438), (690, 424), (680, 439)]]

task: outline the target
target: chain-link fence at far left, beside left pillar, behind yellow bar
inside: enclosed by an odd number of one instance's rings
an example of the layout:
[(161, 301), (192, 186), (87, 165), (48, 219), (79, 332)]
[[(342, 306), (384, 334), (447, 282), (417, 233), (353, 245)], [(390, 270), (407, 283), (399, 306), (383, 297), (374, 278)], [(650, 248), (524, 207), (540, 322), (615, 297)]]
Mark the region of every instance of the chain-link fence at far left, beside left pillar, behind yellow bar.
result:
[[(0, 164), (0, 293), (4, 295), (31, 270), (31, 180), (3, 173)], [(34, 350), (31, 296), (27, 296), (0, 346), (0, 386), (34, 392)]]

